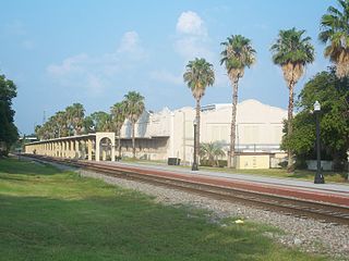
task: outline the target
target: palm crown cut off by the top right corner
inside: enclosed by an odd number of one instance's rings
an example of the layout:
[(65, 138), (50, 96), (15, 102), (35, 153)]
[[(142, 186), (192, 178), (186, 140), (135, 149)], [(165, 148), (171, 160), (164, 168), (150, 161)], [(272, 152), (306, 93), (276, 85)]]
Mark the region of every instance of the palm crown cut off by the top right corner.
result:
[(321, 18), (322, 32), (318, 38), (327, 44), (324, 54), (336, 64), (338, 78), (349, 76), (349, 0), (338, 0), (340, 12), (334, 7)]

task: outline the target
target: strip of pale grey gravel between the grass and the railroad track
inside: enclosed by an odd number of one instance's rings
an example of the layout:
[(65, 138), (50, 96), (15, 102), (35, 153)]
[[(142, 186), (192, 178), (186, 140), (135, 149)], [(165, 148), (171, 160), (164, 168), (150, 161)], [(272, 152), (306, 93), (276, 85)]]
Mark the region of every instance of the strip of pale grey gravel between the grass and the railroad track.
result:
[(155, 201), (163, 204), (186, 204), (192, 208), (208, 210), (212, 213), (208, 217), (209, 221), (217, 224), (220, 224), (219, 221), (224, 217), (238, 216), (243, 220), (272, 225), (285, 233), (265, 233), (265, 235), (284, 245), (297, 247), (306, 252), (328, 254), (338, 260), (349, 260), (349, 226), (285, 215), (178, 189), (110, 177), (91, 171), (80, 171), (80, 174), (154, 196)]

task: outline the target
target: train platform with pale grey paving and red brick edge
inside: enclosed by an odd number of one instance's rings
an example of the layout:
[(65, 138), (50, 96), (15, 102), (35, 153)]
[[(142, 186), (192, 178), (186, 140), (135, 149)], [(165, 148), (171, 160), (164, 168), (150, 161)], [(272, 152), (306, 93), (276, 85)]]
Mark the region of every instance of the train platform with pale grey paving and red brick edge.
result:
[(314, 184), (311, 181), (296, 178), (268, 177), (256, 174), (224, 173), (214, 171), (191, 171), (182, 166), (165, 164), (131, 163), (131, 162), (104, 162), (103, 164), (116, 164), (124, 167), (136, 167), (145, 173), (164, 173), (169, 175), (182, 175), (195, 178), (204, 183), (214, 182), (221, 186), (239, 189), (255, 190), (265, 194), (277, 194), (285, 197), (302, 198), (310, 201), (320, 201), (334, 204), (348, 206), (349, 184), (325, 183)]

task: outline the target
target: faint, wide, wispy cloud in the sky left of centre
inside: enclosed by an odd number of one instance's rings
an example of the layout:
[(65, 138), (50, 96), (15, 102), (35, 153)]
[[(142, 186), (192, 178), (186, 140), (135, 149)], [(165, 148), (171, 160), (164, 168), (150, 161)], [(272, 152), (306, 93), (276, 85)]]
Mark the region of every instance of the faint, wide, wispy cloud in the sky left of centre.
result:
[(146, 58), (139, 34), (127, 32), (113, 52), (96, 57), (86, 53), (72, 55), (60, 63), (48, 65), (46, 71), (61, 86), (82, 88), (98, 95), (112, 87), (120, 73), (142, 65), (141, 62)]

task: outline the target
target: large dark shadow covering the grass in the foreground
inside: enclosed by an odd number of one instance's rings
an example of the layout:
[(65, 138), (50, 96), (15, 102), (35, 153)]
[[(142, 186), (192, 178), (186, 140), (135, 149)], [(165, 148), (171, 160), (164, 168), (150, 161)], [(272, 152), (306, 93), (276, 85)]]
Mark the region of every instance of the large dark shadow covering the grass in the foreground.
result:
[(279, 249), (255, 225), (220, 227), (130, 194), (0, 196), (0, 210), (3, 260), (315, 260)]

